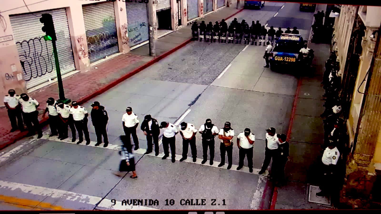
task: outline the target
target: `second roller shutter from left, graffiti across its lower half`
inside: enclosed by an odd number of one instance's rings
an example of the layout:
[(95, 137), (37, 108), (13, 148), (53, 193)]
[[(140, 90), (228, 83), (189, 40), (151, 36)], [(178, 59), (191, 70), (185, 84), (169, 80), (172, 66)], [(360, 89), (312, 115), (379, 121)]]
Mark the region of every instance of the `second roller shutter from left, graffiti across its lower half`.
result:
[(119, 52), (114, 2), (83, 5), (90, 63)]

